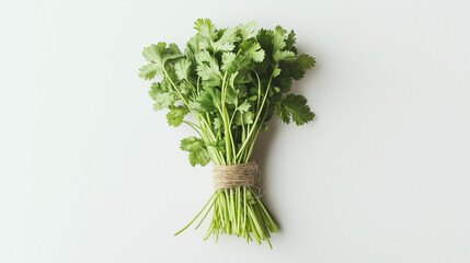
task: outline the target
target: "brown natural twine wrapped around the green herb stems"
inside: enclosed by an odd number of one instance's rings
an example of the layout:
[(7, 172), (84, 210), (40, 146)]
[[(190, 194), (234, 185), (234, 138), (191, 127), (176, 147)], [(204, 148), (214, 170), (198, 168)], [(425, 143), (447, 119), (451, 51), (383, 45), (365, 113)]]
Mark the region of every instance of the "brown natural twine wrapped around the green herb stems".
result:
[(237, 186), (256, 186), (260, 180), (260, 169), (255, 162), (236, 165), (214, 163), (214, 188), (216, 191)]

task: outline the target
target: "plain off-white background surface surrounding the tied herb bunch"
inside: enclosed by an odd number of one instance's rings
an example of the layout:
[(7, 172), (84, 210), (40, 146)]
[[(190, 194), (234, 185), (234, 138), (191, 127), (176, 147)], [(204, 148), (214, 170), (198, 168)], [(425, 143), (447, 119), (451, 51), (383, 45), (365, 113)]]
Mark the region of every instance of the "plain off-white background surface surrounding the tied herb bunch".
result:
[[(470, 262), (466, 1), (2, 1), (0, 262)], [(317, 67), (255, 160), (282, 232), (172, 233), (211, 194), (152, 112), (141, 49), (193, 22), (297, 33)]]

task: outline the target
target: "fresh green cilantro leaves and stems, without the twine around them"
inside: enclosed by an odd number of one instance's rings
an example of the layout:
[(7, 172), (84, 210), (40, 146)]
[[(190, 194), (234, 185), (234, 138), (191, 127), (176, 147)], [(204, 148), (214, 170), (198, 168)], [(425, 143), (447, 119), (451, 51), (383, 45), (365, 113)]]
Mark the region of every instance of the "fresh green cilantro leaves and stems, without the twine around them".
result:
[[(192, 165), (210, 161), (215, 167), (248, 165), (259, 134), (268, 128), (275, 114), (297, 125), (314, 117), (306, 98), (290, 93), (293, 80), (300, 80), (314, 59), (297, 55), (294, 31), (280, 26), (255, 31), (255, 26), (250, 22), (218, 30), (210, 20), (199, 19), (194, 27), (197, 34), (184, 53), (163, 42), (142, 52), (149, 64), (140, 68), (139, 77), (158, 79), (149, 91), (153, 108), (168, 108), (169, 125), (185, 124), (197, 134), (181, 141)], [(259, 192), (252, 184), (216, 188), (181, 231), (206, 210), (198, 228), (213, 210), (205, 240), (226, 233), (247, 242), (265, 240), (271, 247), (271, 232), (277, 232), (279, 226)]]

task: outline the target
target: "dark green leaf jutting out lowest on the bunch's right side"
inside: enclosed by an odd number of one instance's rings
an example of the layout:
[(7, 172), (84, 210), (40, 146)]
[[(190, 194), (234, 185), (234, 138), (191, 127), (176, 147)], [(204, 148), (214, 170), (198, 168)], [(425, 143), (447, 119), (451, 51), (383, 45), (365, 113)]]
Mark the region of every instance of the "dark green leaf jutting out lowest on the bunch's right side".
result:
[(290, 117), (297, 125), (303, 125), (314, 117), (314, 114), (307, 105), (307, 99), (296, 94), (288, 94), (277, 105), (276, 113), (287, 124), (290, 123)]

